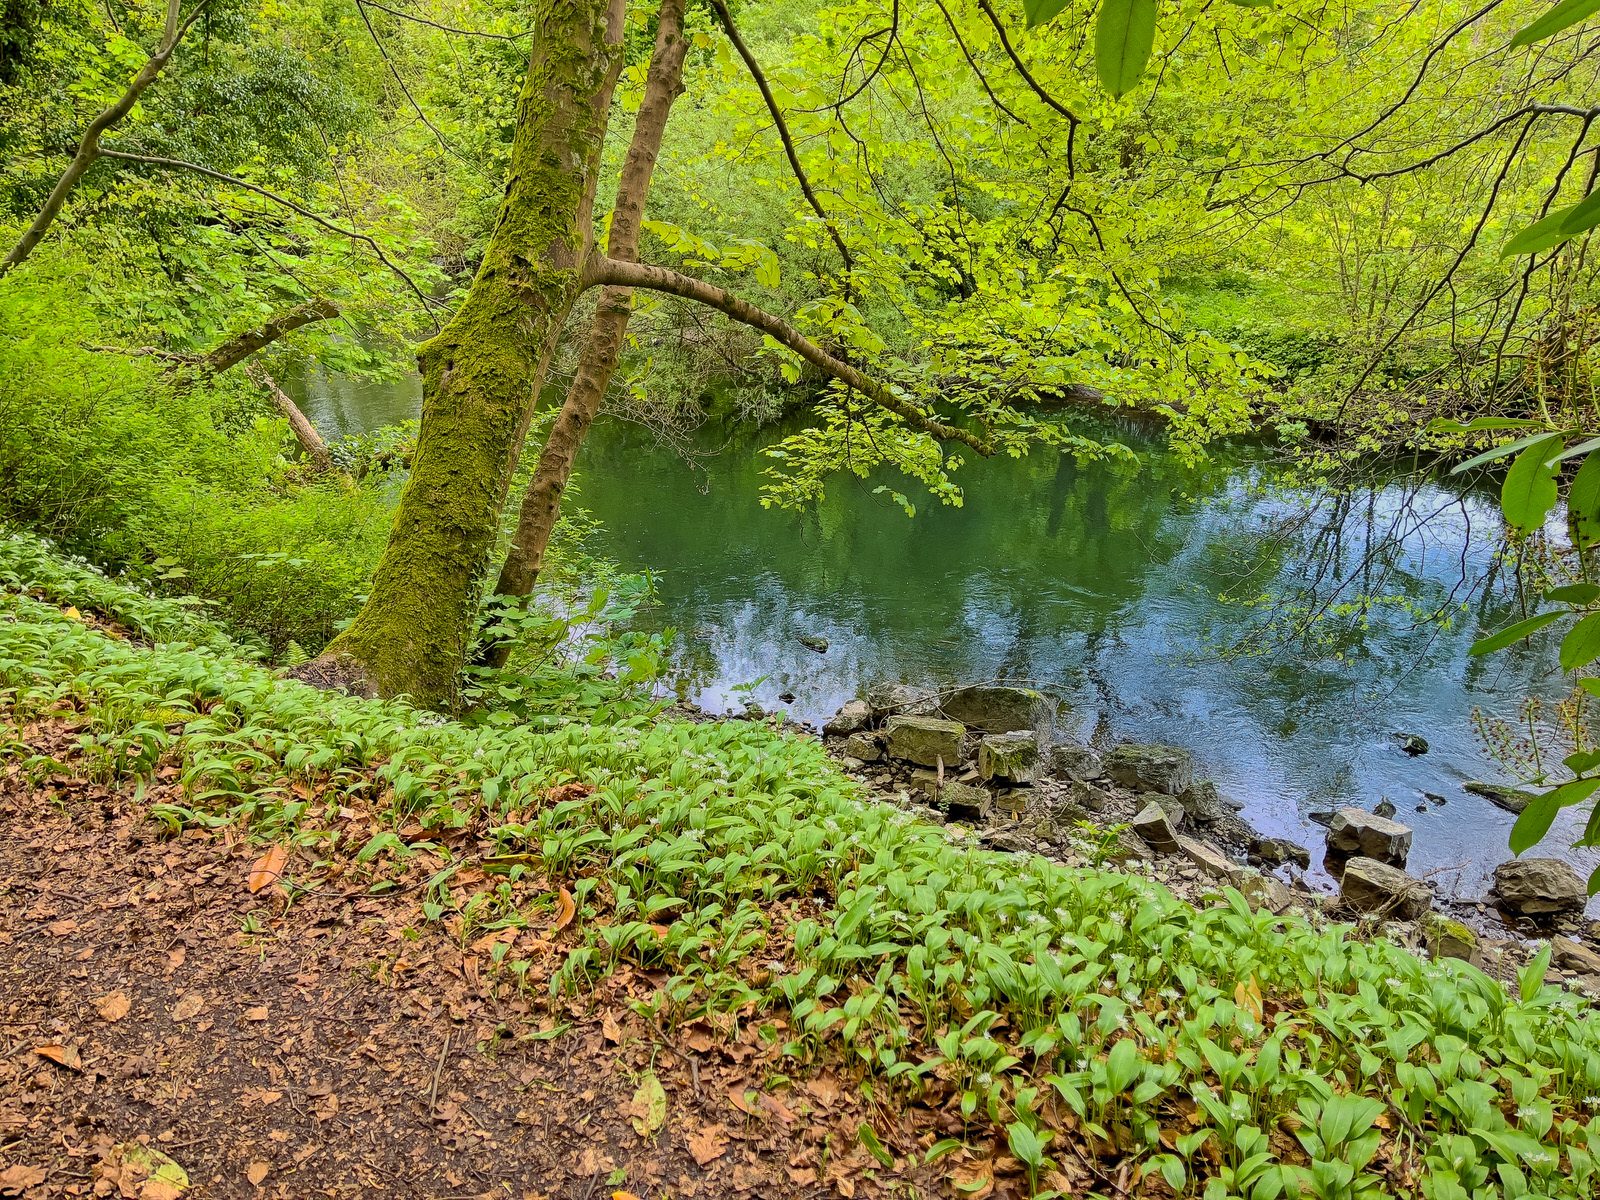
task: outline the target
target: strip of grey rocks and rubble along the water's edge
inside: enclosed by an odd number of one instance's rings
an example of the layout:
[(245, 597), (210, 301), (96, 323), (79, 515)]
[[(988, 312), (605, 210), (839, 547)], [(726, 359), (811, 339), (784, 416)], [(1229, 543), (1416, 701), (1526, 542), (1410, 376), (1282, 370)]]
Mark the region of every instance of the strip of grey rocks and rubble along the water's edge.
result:
[(1482, 901), (1440, 901), (1405, 870), (1413, 830), (1350, 806), (1326, 816), (1315, 848), (1333, 891), (1312, 875), (1314, 848), (1253, 829), (1240, 805), (1195, 778), (1187, 750), (1061, 742), (1056, 704), (1032, 688), (883, 688), (845, 704), (822, 738), (885, 798), (990, 848), (1117, 866), (1197, 904), (1230, 885), (1254, 907), (1354, 920), (1502, 979), (1550, 939), (1550, 981), (1600, 998), (1600, 922), (1584, 918), (1584, 883), (1558, 859), (1512, 859)]

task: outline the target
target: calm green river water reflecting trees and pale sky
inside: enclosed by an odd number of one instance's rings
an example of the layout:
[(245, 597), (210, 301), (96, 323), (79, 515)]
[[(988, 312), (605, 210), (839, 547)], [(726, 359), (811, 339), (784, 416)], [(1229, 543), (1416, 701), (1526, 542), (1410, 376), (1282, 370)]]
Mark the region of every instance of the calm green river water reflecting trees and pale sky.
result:
[[(414, 381), (310, 379), (302, 395), (330, 437), (418, 405)], [(1530, 693), (1560, 694), (1549, 643), (1467, 654), (1515, 614), (1504, 582), (1480, 598), (1493, 496), (1394, 478), (1334, 498), (1286, 490), (1259, 450), (1187, 467), (1138, 427), (1085, 432), (1122, 437), (1138, 467), (970, 462), (960, 509), (896, 485), (917, 501), (907, 518), (880, 480), (838, 480), (808, 512), (762, 509), (758, 450), (778, 432), (707, 437), (688, 461), (602, 421), (581, 504), (603, 525), (595, 552), (654, 574), (650, 619), (677, 630), (707, 710), (749, 698), (819, 723), (878, 682), (1029, 682), (1066, 701), (1078, 739), (1186, 746), (1253, 824), (1314, 848), (1309, 813), (1387, 798), (1416, 830), (1411, 870), (1482, 894), (1514, 818), (1462, 790), (1509, 781), (1480, 717), (1515, 722)], [(1381, 602), (1357, 610), (1362, 594)]]

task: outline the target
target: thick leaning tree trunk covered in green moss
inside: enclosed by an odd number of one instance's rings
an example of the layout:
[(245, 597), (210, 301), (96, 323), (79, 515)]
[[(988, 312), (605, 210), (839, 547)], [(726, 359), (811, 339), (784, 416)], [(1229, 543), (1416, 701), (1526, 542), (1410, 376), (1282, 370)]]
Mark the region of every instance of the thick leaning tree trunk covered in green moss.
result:
[(541, 0), (506, 197), (467, 298), (418, 352), (422, 427), (371, 592), (298, 674), (448, 706), (533, 400), (584, 283), (624, 0)]

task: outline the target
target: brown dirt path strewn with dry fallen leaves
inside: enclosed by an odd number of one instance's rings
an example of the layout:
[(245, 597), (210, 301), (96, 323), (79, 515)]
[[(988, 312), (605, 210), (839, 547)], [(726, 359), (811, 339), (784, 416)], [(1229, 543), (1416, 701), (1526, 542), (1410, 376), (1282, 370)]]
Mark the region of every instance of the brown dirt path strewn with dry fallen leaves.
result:
[[(646, 1024), (630, 1002), (658, 978), (550, 1002), (493, 936), (426, 922), (414, 882), (344, 893), (334, 870), (290, 906), (248, 890), (259, 845), (165, 837), (147, 803), (0, 770), (0, 1197), (176, 1195), (139, 1146), (206, 1198), (1022, 1194), (1000, 1155), (998, 1189), (909, 1165), (954, 1114), (786, 1074), (754, 1024)], [(906, 1147), (894, 1168), (862, 1122)]]

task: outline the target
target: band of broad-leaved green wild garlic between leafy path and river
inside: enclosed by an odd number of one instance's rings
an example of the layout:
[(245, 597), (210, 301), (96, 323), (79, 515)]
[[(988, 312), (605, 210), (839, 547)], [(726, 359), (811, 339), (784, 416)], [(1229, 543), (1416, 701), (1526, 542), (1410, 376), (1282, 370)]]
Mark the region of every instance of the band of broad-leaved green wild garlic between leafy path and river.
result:
[[(1107, 1179), (1138, 1163), (1152, 1195), (1587, 1197), (1600, 1178), (1600, 1026), (1542, 958), (1512, 995), (1234, 891), (1195, 910), (990, 853), (762, 725), (536, 730), (318, 693), (203, 610), (26, 534), (0, 536), (0, 760), (35, 778), (61, 765), (26, 733), (62, 715), (83, 726), (72, 770), (178, 766), (181, 797), (150, 808), (170, 829), (237, 822), (354, 858), (379, 891), (440, 856), (430, 910), (462, 936), (547, 922), (555, 891), (510, 885), (562, 880), (581, 941), (555, 987), (635, 963), (670, 973), (664, 1022), (784, 1013), (787, 1053), (1002, 1128), (1040, 1187), (1069, 1147)], [(494, 853), (453, 853), (469, 829)], [(462, 896), (467, 866), (501, 882)]]

